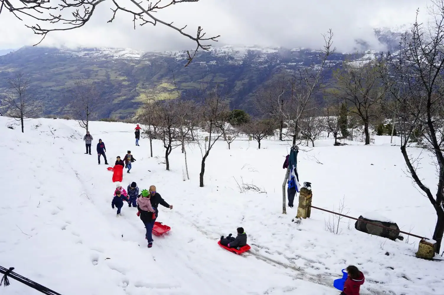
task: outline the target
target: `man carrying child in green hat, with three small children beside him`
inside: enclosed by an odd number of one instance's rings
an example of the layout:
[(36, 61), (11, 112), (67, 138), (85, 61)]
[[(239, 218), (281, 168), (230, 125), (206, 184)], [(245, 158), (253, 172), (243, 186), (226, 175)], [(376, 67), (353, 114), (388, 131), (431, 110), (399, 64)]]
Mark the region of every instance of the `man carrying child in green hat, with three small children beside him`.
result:
[(114, 198), (111, 202), (111, 207), (113, 209), (117, 208), (116, 217), (122, 216), (123, 201), (128, 203), (128, 207), (132, 206), (138, 209), (137, 216), (139, 216), (147, 229), (145, 239), (148, 241), (148, 248), (151, 248), (153, 246), (152, 231), (154, 222), (159, 215), (159, 204), (170, 209), (173, 208), (173, 205), (169, 205), (163, 200), (154, 185), (151, 185), (149, 190), (143, 189), (139, 194), (139, 187), (135, 182), (131, 182), (128, 185), (127, 191), (120, 183), (116, 184)]

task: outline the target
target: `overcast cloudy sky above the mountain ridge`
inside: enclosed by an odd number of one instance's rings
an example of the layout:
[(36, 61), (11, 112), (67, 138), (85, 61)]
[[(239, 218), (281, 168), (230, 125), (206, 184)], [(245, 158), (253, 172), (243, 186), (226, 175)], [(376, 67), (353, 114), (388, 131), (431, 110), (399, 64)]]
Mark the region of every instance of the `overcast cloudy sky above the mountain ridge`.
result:
[[(117, 2), (131, 8), (128, 0)], [(214, 46), (317, 49), (323, 44), (321, 34), (331, 28), (337, 49), (353, 51), (355, 39), (364, 39), (379, 49), (373, 28), (412, 24), (417, 8), (424, 17), (427, 3), (426, 0), (200, 0), (171, 6), (156, 16), (174, 21), (177, 26), (188, 25), (185, 31), (191, 35), (199, 25), (207, 35), (221, 35), (218, 43), (212, 43)], [(112, 16), (111, 5), (111, 0), (104, 1), (83, 28), (52, 32), (41, 46), (123, 47), (144, 51), (193, 47), (194, 43), (186, 37), (161, 24), (136, 26), (134, 30), (132, 17), (125, 12), (118, 12), (116, 19), (107, 23)], [(40, 40), (40, 36), (5, 10), (0, 16), (0, 36), (0, 49), (32, 45)]]

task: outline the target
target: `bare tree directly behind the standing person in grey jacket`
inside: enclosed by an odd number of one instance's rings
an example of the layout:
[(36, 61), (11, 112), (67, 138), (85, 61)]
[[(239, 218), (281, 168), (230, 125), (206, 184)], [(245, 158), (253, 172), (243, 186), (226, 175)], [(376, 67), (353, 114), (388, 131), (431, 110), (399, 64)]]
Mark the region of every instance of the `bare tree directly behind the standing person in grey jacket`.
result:
[(79, 126), (89, 131), (89, 121), (97, 115), (103, 106), (102, 98), (94, 84), (77, 80), (72, 89), (71, 114), (79, 122)]

